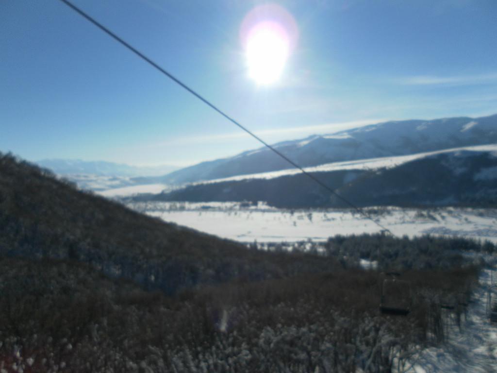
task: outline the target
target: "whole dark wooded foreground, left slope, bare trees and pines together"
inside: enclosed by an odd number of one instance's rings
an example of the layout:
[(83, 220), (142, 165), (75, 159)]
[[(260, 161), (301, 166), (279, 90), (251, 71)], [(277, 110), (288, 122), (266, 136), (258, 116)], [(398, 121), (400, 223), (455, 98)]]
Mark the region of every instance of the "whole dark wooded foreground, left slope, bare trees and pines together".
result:
[[(470, 296), (478, 275), (454, 249), (484, 250), (384, 234), (335, 237), (324, 248), (320, 256), (247, 250), (0, 156), (1, 371), (393, 371), (392, 357), (405, 366), (449, 338), (439, 299)], [(378, 315), (382, 278), (357, 268), (362, 258), (406, 270), (405, 318)], [(170, 297), (102, 272), (167, 295), (203, 286)]]

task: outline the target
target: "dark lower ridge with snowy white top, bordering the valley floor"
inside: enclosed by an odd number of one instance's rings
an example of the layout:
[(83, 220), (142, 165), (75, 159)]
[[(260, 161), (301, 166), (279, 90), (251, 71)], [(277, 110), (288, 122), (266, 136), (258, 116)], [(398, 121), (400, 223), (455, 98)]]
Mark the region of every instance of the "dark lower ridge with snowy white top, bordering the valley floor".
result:
[[(480, 148), (483, 149), (351, 162), (330, 165), (329, 171), (316, 167), (309, 172), (357, 206), (496, 207), (497, 145)], [(282, 173), (197, 183), (134, 200), (266, 201), (280, 208), (350, 207), (302, 173), (278, 174)]]

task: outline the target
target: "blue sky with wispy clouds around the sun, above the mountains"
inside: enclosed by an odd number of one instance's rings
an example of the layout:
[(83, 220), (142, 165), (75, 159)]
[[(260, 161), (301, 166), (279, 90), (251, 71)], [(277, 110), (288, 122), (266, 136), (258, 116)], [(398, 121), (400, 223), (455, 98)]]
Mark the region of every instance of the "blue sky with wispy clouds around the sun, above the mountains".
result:
[[(385, 119), (497, 112), (497, 1), (272, 1), (298, 41), (248, 78), (261, 1), (74, 0), (268, 142)], [(58, 0), (0, 2), (0, 151), (188, 165), (259, 147)]]

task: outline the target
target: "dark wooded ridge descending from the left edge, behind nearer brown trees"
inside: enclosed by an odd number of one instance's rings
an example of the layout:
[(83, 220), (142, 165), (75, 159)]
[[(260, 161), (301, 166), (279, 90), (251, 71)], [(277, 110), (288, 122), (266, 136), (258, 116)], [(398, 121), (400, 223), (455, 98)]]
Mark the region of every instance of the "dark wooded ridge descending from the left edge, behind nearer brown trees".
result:
[(246, 250), (77, 190), (0, 154), (0, 255), (90, 264), (166, 293), (234, 278), (325, 271), (332, 260)]

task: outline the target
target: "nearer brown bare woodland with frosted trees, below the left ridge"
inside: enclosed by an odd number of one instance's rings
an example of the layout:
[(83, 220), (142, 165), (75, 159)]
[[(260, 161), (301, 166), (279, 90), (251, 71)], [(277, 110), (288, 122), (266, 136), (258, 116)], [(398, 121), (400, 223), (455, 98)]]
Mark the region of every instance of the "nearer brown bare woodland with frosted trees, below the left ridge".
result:
[[(402, 245), (390, 243), (397, 245), (389, 256), (398, 255)], [(335, 240), (330, 248), (347, 244)], [(444, 254), (440, 243), (431, 247), (426, 258)], [(378, 312), (385, 277), (356, 267), (203, 286), (171, 298), (74, 261), (0, 257), (0, 369), (402, 372), (424, 346), (452, 338), (444, 328), (447, 317), (464, 325), (466, 303), (456, 300), (447, 315), (440, 302), (470, 296), (478, 270), (455, 263), (446, 270), (406, 271), (412, 312), (392, 317)]]

